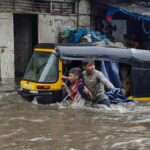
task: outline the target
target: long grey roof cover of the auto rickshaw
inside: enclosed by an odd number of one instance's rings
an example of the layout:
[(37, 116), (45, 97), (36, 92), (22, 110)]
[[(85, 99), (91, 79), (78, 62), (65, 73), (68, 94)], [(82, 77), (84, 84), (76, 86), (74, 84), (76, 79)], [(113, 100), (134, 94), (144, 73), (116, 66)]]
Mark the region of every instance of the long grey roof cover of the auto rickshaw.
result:
[(131, 48), (100, 47), (95, 45), (58, 45), (59, 56), (65, 60), (117, 60), (130, 62), (133, 59), (150, 61), (150, 51)]

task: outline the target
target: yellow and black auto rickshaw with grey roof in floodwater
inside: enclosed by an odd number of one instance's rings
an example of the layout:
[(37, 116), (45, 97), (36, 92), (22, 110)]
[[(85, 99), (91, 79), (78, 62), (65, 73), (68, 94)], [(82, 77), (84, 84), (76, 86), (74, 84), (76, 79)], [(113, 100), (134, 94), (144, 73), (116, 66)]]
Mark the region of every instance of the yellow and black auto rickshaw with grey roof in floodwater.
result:
[(29, 101), (37, 97), (42, 104), (61, 102), (63, 60), (71, 62), (71, 67), (81, 67), (81, 61), (86, 58), (94, 59), (97, 66), (101, 61), (117, 63), (121, 78), (124, 76), (121, 72), (128, 72), (127, 96), (132, 100), (150, 101), (150, 51), (83, 44), (38, 44), (18, 93)]

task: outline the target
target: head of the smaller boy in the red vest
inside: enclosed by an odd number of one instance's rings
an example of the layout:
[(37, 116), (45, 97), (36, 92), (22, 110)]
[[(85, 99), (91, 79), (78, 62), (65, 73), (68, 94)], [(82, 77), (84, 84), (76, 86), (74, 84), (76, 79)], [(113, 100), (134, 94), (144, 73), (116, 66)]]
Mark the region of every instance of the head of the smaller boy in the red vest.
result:
[(80, 68), (72, 68), (69, 70), (69, 80), (71, 83), (74, 83), (81, 78), (82, 78), (82, 71)]

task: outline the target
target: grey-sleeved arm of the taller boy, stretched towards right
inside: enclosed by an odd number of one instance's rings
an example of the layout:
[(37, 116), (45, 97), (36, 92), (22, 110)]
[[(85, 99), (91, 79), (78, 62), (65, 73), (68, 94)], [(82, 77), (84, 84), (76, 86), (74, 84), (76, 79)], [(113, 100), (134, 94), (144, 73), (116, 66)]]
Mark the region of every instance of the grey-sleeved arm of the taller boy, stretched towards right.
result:
[(114, 85), (104, 76), (102, 72), (99, 72), (100, 81), (108, 88), (114, 89)]

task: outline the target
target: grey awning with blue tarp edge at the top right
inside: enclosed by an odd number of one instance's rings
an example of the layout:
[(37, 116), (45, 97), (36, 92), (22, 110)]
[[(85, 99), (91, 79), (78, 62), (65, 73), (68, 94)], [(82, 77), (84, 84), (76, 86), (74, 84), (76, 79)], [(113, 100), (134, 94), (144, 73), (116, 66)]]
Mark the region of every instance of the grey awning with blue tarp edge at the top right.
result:
[[(113, 16), (118, 12), (136, 17), (138, 19), (150, 21), (150, 2), (134, 0), (133, 3), (127, 1), (95, 0), (100, 4), (108, 6), (107, 16)], [(147, 4), (147, 5), (146, 5)]]

